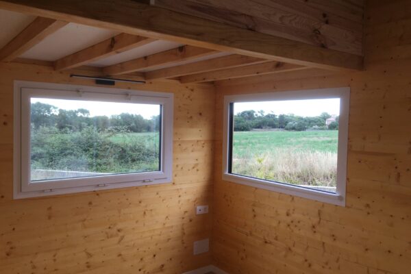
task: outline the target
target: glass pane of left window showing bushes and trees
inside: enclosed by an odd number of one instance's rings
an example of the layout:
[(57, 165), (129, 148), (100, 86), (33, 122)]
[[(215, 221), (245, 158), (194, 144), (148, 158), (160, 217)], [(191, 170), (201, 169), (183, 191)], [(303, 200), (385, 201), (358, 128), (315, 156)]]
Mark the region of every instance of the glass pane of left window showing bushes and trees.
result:
[(32, 182), (160, 170), (161, 105), (31, 98)]

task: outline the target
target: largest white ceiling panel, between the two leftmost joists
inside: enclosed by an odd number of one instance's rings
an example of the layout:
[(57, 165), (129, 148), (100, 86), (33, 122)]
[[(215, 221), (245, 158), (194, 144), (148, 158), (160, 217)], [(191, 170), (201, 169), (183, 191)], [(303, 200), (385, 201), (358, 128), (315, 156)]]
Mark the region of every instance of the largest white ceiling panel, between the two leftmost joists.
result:
[(21, 58), (55, 61), (71, 53), (97, 44), (119, 34), (110, 29), (100, 29), (69, 23), (57, 32), (47, 36), (36, 46), (26, 51)]

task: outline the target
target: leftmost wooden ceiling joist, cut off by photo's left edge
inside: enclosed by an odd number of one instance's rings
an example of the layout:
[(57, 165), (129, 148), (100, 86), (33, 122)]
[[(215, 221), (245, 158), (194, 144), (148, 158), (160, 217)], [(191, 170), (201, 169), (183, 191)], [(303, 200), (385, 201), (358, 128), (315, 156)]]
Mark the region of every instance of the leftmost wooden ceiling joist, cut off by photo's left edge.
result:
[(66, 22), (37, 17), (7, 45), (0, 49), (0, 61), (10, 62), (22, 55), (44, 38), (67, 25)]

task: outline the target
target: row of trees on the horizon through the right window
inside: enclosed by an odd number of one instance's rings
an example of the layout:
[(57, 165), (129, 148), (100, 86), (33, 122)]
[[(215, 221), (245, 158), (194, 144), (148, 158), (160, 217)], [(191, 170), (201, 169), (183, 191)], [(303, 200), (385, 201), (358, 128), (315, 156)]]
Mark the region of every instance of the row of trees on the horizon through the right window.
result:
[(295, 114), (265, 114), (263, 110), (245, 110), (234, 115), (234, 131), (248, 132), (251, 129), (284, 129), (289, 131), (305, 131), (307, 129), (338, 129), (338, 116), (336, 121), (325, 124), (332, 116), (327, 112), (319, 116), (297, 116)]

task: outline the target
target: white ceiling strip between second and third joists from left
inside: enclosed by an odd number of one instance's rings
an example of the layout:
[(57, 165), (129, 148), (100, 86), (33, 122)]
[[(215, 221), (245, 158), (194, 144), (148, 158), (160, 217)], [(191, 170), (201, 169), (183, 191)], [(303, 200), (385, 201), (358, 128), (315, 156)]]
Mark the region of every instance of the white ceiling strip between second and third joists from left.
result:
[(111, 66), (112, 64), (119, 64), (121, 62), (133, 60), (136, 58), (142, 58), (147, 55), (159, 53), (162, 51), (167, 51), (169, 49), (175, 49), (176, 47), (180, 47), (180, 46), (182, 46), (182, 44), (178, 44), (176, 42), (156, 40), (147, 45), (136, 47), (135, 49), (131, 49), (123, 53), (112, 55), (108, 58), (97, 60), (95, 62), (90, 63), (89, 65), (90, 66)]

